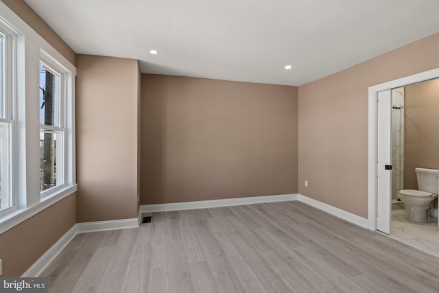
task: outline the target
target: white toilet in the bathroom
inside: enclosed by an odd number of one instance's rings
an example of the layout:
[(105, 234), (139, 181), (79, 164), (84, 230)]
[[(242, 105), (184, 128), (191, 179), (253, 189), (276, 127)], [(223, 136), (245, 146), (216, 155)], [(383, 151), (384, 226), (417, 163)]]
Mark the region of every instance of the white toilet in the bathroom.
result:
[(425, 223), (432, 222), (433, 200), (438, 196), (438, 169), (416, 168), (418, 189), (403, 189), (398, 198), (405, 203), (404, 219), (407, 221)]

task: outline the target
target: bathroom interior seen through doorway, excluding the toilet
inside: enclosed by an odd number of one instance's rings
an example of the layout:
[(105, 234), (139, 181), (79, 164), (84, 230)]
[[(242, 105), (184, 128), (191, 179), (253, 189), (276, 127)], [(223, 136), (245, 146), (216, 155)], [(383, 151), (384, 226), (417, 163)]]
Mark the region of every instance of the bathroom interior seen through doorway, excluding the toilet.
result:
[[(438, 202), (431, 222), (405, 220), (399, 192), (418, 189), (416, 168), (439, 169), (439, 79), (392, 90), (392, 237), (439, 257)], [(407, 217), (406, 217), (407, 218)]]

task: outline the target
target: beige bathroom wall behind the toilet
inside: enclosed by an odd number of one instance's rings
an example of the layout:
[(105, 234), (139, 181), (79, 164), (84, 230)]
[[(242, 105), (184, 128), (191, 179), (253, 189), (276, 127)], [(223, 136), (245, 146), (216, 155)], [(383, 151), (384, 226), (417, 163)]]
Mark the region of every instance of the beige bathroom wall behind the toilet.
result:
[(405, 87), (404, 188), (418, 189), (416, 167), (439, 168), (439, 79)]

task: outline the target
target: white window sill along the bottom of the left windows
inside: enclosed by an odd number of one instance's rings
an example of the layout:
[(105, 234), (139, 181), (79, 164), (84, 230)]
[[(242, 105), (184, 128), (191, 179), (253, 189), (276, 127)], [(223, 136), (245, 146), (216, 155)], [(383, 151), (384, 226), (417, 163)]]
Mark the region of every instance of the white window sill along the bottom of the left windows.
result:
[(10, 228), (24, 222), (25, 220), (31, 218), (33, 215), (36, 215), (40, 211), (47, 209), (52, 204), (59, 202), (63, 198), (67, 198), (75, 191), (78, 190), (78, 185), (71, 185), (69, 187), (64, 187), (60, 189), (56, 195), (48, 196), (47, 198), (42, 198), (41, 202), (35, 204), (32, 207), (27, 207), (24, 209), (16, 209), (11, 211), (10, 213), (6, 213), (5, 215), (0, 216), (0, 234), (5, 233)]

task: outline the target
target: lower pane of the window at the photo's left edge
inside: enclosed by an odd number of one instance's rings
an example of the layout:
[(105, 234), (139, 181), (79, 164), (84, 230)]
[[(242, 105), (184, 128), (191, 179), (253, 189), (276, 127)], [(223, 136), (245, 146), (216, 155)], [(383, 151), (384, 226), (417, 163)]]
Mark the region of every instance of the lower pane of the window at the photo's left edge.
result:
[(10, 123), (0, 122), (0, 210), (12, 205), (10, 190)]

